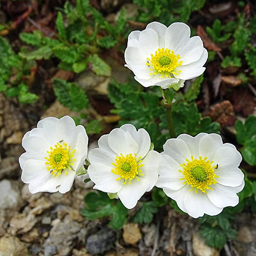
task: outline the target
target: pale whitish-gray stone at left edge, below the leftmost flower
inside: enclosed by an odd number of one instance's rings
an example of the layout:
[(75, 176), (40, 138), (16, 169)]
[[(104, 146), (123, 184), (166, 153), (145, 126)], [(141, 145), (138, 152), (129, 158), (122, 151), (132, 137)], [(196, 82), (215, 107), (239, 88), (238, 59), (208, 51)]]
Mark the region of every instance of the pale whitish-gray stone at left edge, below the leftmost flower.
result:
[(23, 205), (20, 184), (14, 180), (0, 181), (0, 209), (19, 209)]

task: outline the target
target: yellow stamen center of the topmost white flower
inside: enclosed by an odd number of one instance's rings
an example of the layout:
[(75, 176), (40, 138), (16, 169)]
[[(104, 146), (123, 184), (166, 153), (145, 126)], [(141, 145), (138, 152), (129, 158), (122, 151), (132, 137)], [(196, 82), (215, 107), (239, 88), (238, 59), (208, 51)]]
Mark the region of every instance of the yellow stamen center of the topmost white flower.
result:
[(148, 69), (153, 71), (150, 75), (157, 75), (161, 73), (161, 77), (165, 75), (165, 77), (172, 78), (170, 73), (179, 75), (181, 70), (176, 70), (179, 66), (182, 65), (182, 61), (180, 59), (180, 55), (175, 55), (174, 51), (170, 51), (167, 48), (158, 49), (155, 52), (155, 55), (151, 54), (151, 59), (146, 58), (146, 65)]

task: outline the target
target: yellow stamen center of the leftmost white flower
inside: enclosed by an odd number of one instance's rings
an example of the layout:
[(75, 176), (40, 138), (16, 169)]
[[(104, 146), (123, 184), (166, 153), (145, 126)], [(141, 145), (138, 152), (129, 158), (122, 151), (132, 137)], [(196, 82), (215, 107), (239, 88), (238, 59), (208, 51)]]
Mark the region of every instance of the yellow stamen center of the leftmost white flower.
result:
[(50, 151), (47, 151), (49, 156), (45, 157), (47, 160), (47, 162), (45, 162), (47, 165), (46, 168), (53, 177), (58, 177), (62, 170), (65, 170), (67, 175), (67, 168), (71, 170), (72, 162), (76, 160), (73, 158), (76, 150), (71, 152), (70, 146), (67, 147), (67, 143), (64, 142), (62, 144), (57, 142), (54, 146), (55, 148), (50, 147)]

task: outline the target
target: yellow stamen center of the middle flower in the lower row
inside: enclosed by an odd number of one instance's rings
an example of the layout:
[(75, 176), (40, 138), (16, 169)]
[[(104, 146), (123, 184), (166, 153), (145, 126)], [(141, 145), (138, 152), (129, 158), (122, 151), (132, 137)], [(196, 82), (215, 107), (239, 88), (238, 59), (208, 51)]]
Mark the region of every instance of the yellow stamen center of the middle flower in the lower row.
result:
[(141, 157), (138, 157), (136, 154), (127, 154), (126, 157), (124, 157), (122, 154), (120, 154), (120, 157), (117, 156), (115, 159), (115, 163), (112, 163), (115, 168), (111, 170), (112, 173), (119, 175), (116, 180), (124, 179), (123, 184), (126, 184), (126, 181), (129, 180), (129, 185), (131, 184), (131, 180), (136, 178), (138, 181), (139, 178), (137, 175), (144, 176), (144, 174), (141, 174), (140, 167), (143, 166), (143, 164), (140, 164), (142, 162)]

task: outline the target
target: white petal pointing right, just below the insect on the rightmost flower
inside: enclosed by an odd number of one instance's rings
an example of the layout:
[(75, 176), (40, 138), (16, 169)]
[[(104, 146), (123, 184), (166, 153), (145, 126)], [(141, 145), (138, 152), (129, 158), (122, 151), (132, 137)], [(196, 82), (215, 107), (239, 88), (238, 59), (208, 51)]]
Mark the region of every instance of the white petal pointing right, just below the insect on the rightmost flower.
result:
[(244, 174), (238, 167), (228, 169), (219, 166), (215, 174), (219, 176), (216, 181), (224, 186), (237, 187), (244, 180)]

